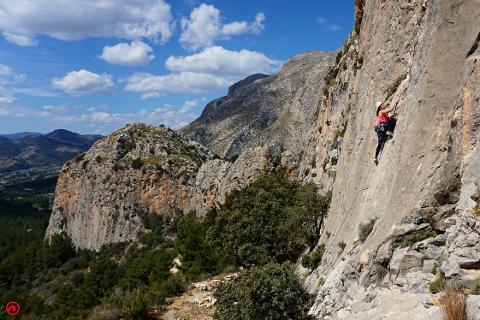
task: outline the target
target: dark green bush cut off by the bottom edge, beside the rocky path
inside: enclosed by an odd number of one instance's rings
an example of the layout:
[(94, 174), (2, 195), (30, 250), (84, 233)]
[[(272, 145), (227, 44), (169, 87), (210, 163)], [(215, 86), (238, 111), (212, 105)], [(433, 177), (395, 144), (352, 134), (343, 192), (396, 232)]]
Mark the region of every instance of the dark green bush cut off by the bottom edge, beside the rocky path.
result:
[(290, 264), (253, 269), (216, 290), (214, 319), (308, 319), (313, 302)]

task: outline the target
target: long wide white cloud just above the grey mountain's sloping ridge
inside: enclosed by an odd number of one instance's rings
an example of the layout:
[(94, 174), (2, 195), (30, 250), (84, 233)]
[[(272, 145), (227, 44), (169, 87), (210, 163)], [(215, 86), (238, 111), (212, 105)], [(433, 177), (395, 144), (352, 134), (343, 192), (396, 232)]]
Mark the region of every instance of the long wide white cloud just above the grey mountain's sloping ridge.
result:
[(170, 74), (133, 74), (124, 80), (125, 90), (142, 93), (142, 98), (168, 92), (212, 92), (225, 89), (253, 73), (272, 73), (280, 65), (280, 61), (259, 52), (210, 47), (186, 57), (169, 57), (165, 66), (172, 71)]

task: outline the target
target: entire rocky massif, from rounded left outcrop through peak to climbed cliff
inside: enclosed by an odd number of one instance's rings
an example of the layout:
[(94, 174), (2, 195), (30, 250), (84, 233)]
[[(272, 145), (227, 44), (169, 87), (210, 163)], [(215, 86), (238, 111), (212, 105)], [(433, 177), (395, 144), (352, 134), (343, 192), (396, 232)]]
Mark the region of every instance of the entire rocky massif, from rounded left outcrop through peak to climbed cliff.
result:
[[(243, 80), (183, 137), (127, 127), (67, 163), (47, 237), (66, 232), (92, 249), (126, 241), (143, 228), (138, 208), (203, 216), (283, 166), (333, 195), (321, 263), (298, 267), (314, 318), (442, 319), (430, 289), (473, 290), (480, 276), (478, 25), (477, 0), (356, 0), (336, 57), (307, 53)], [(378, 166), (377, 100), (398, 118)], [(478, 319), (478, 296), (467, 306)]]

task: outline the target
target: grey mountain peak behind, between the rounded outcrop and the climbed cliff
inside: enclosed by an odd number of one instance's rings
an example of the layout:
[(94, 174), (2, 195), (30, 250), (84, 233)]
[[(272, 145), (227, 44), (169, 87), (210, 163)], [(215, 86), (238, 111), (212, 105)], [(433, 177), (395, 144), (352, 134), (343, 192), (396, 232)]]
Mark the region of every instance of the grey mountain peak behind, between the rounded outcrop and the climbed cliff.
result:
[(314, 127), (321, 84), (333, 61), (332, 53), (309, 52), (273, 76), (247, 77), (181, 133), (227, 160), (266, 144), (298, 154)]

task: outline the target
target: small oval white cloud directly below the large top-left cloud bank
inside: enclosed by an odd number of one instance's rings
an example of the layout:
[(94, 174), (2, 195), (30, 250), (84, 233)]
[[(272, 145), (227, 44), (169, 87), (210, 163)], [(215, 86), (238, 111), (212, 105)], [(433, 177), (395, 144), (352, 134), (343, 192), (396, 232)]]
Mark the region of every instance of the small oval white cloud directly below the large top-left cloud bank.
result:
[(112, 64), (124, 66), (146, 66), (155, 56), (153, 49), (142, 41), (133, 41), (132, 43), (119, 43), (112, 47), (104, 47), (100, 59)]

